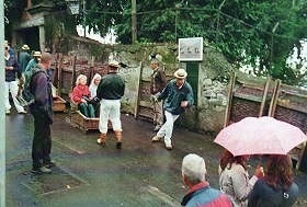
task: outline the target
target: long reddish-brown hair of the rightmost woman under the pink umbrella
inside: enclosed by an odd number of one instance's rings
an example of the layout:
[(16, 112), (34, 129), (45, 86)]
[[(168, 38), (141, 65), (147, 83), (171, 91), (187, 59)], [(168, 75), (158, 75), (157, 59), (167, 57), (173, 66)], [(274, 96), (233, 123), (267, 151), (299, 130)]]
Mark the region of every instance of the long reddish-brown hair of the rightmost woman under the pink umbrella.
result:
[(266, 162), (264, 181), (277, 191), (280, 184), (283, 189), (288, 189), (293, 184), (292, 160), (289, 156), (270, 156)]

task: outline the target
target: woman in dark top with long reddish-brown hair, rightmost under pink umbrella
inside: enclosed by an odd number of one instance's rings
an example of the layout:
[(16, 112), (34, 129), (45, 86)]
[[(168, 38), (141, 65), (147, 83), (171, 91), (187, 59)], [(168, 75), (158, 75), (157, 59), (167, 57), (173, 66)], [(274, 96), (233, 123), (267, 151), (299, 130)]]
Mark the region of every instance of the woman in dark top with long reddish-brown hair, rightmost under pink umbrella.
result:
[(289, 156), (270, 156), (264, 176), (251, 191), (248, 207), (289, 207), (298, 196)]

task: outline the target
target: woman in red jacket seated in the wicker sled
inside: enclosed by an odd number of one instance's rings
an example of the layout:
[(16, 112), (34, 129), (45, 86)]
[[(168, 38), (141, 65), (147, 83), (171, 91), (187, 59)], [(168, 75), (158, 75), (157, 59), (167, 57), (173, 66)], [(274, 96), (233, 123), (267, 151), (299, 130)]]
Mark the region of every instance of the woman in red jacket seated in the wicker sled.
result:
[(94, 106), (90, 103), (92, 100), (89, 87), (87, 85), (87, 77), (79, 74), (76, 87), (72, 90), (72, 101), (78, 104), (80, 112), (87, 117), (95, 117)]

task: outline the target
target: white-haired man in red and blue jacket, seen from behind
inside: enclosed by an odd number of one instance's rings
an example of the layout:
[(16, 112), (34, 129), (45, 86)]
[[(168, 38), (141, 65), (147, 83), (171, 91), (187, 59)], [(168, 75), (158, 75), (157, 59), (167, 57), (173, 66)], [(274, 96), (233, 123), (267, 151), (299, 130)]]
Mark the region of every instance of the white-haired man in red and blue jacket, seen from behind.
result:
[(232, 207), (226, 194), (212, 188), (205, 179), (206, 165), (203, 158), (195, 153), (185, 156), (182, 160), (182, 179), (189, 187), (183, 197), (182, 206), (186, 207)]

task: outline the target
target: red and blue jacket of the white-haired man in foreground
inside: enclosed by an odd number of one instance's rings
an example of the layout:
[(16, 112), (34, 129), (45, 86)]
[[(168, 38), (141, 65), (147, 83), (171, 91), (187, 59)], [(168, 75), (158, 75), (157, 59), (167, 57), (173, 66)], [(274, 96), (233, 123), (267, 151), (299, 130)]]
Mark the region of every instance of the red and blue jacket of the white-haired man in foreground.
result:
[(208, 182), (201, 182), (190, 188), (181, 203), (185, 207), (232, 207), (232, 203), (220, 191), (211, 188)]

